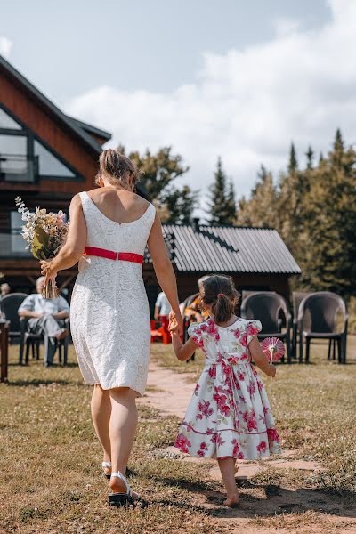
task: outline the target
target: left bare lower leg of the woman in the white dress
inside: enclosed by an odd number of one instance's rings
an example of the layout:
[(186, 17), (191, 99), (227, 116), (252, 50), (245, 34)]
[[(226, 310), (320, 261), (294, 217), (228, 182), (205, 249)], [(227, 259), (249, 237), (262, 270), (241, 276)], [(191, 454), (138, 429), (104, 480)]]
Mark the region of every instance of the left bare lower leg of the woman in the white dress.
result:
[(109, 423), (111, 416), (111, 401), (109, 390), (103, 390), (100, 384), (94, 385), (91, 409), (95, 432), (104, 451), (103, 461), (110, 462), (111, 446), (109, 437)]

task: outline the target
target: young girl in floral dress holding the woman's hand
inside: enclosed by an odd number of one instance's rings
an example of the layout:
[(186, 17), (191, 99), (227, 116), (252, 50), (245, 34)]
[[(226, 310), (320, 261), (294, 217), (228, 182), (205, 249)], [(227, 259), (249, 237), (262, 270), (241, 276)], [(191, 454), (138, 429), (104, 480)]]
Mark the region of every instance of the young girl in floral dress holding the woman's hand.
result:
[(268, 376), (275, 376), (276, 368), (258, 342), (261, 323), (234, 315), (238, 300), (230, 277), (212, 275), (200, 287), (201, 306), (210, 318), (190, 325), (185, 344), (174, 316), (169, 327), (178, 360), (188, 360), (197, 346), (206, 355), (175, 447), (192, 457), (217, 458), (227, 492), (225, 506), (239, 503), (236, 460), (255, 460), (280, 451), (270, 403), (251, 358)]

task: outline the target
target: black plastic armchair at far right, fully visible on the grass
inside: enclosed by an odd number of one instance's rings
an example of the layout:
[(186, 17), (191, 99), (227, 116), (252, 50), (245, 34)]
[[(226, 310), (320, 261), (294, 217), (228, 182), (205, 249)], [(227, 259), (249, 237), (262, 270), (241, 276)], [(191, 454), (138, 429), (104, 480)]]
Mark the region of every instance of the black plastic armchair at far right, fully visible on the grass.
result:
[[(343, 325), (337, 325), (337, 314), (343, 315)], [(310, 361), (312, 339), (328, 339), (328, 359), (330, 359), (331, 341), (337, 344), (338, 361), (346, 363), (348, 313), (341, 296), (329, 291), (318, 291), (303, 298), (299, 306), (299, 362), (303, 362), (303, 341), (305, 340), (305, 363)]]

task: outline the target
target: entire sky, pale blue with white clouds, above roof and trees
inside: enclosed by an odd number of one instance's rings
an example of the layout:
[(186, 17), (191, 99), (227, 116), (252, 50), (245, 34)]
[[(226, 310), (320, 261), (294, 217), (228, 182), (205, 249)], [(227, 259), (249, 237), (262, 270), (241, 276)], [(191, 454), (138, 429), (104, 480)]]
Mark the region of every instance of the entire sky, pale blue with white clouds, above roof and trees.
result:
[(206, 193), (223, 158), (238, 196), (293, 140), (356, 142), (354, 0), (2, 3), (0, 53), (61, 109), (128, 150), (172, 145)]

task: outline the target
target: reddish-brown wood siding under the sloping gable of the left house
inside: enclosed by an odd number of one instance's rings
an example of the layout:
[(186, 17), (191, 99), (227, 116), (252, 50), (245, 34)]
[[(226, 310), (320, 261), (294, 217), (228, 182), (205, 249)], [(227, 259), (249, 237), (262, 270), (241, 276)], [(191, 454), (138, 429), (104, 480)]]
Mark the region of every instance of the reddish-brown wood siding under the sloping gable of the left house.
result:
[[(97, 170), (98, 154), (94, 153), (76, 134), (69, 131), (67, 125), (57, 124), (48, 109), (43, 109), (38, 101), (34, 100), (26, 90), (4, 73), (0, 73), (1, 101), (12, 110), (12, 113), (28, 125), (40, 139), (47, 142), (58, 154), (69, 162), (77, 172), (85, 176), (82, 189), (90, 189)], [(40, 182), (41, 190), (64, 191), (78, 190), (80, 186), (70, 181), (60, 182), (53, 180)], [(18, 184), (0, 184), (0, 189), (20, 190)], [(38, 190), (38, 186), (28, 184), (28, 190)], [(79, 189), (80, 190), (80, 189)]]

